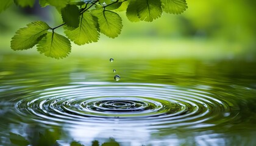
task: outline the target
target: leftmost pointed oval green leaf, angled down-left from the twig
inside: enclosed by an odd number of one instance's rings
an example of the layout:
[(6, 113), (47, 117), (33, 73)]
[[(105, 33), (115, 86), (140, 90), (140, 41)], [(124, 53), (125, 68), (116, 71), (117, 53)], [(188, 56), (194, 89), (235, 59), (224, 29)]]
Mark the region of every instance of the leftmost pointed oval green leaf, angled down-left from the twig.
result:
[(51, 27), (43, 21), (28, 24), (27, 27), (19, 29), (16, 35), (13, 36), (11, 48), (13, 50), (25, 50), (34, 47), (47, 33), (48, 29), (51, 29)]

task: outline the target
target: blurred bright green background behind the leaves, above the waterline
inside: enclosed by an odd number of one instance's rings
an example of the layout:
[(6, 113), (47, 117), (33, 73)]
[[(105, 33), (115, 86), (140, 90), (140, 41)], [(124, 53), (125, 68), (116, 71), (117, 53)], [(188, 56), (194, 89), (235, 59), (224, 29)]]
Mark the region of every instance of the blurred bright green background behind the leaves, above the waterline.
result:
[[(98, 43), (73, 44), (69, 57), (255, 60), (255, 1), (188, 0), (187, 3), (188, 9), (181, 15), (164, 13), (152, 23), (131, 23), (121, 12), (124, 27), (118, 38), (101, 35)], [(37, 20), (46, 21), (52, 27), (62, 24), (56, 10), (41, 9), (38, 4), (34, 9), (13, 5), (0, 13), (0, 54), (39, 56), (35, 48), (10, 49), (10, 40), (16, 30)], [(63, 33), (63, 29), (57, 32)]]

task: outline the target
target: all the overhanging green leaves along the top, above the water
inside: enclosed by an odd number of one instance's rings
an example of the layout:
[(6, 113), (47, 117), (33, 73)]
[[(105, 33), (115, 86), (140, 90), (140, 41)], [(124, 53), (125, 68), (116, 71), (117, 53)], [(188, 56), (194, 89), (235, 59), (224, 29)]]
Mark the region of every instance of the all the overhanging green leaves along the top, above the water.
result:
[[(32, 7), (35, 0), (13, 0), (21, 7)], [(12, 1), (0, 2), (0, 12)], [(179, 14), (187, 9), (185, 0), (40, 0), (41, 7), (51, 5), (59, 10), (63, 24), (49, 27), (37, 21), (20, 29), (13, 36), (11, 48), (25, 50), (37, 45), (37, 50), (52, 58), (63, 58), (71, 51), (70, 41), (82, 45), (97, 42), (99, 33), (116, 38), (123, 29), (122, 18), (116, 12), (126, 11), (132, 22), (147, 21), (160, 18), (163, 12)], [(54, 32), (64, 26), (65, 36)], [(52, 32), (49, 32), (52, 31)]]

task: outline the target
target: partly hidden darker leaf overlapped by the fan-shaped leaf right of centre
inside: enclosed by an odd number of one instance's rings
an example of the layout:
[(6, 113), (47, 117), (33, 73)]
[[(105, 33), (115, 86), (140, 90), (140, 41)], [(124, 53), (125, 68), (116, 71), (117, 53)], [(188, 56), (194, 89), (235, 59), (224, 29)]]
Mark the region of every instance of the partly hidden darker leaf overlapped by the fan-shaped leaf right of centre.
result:
[(130, 3), (126, 10), (126, 16), (132, 22), (140, 21), (140, 18), (138, 18), (138, 13), (137, 13), (137, 1), (136, 0), (130, 0)]

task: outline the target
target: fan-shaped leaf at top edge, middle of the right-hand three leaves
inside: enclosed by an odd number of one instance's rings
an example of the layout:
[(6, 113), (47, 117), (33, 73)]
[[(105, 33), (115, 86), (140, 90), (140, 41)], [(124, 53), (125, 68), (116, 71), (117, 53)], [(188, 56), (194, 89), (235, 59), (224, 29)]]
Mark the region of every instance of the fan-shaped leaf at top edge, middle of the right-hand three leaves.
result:
[(140, 0), (137, 1), (138, 17), (142, 21), (151, 22), (160, 18), (162, 15), (162, 7), (160, 0)]

